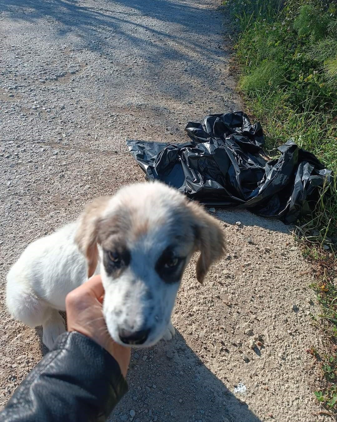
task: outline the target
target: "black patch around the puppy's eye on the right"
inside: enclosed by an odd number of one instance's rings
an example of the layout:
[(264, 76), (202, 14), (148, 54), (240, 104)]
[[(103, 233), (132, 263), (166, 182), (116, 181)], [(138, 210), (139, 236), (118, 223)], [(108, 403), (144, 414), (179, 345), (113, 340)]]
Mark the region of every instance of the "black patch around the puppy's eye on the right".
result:
[(177, 283), (181, 279), (185, 261), (185, 257), (177, 257), (172, 246), (168, 246), (156, 262), (155, 271), (165, 283)]

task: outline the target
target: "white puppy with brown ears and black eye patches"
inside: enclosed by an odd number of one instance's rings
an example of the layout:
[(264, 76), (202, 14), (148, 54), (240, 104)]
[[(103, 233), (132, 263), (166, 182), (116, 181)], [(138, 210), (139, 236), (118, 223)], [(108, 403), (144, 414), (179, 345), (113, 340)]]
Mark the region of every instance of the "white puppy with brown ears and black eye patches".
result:
[(160, 182), (134, 184), (88, 203), (77, 221), (31, 243), (7, 276), (12, 316), (43, 326), (50, 349), (65, 331), (59, 310), (88, 277), (101, 274), (103, 314), (113, 340), (148, 347), (174, 335), (171, 313), (182, 274), (200, 251), (200, 283), (225, 252), (217, 220)]

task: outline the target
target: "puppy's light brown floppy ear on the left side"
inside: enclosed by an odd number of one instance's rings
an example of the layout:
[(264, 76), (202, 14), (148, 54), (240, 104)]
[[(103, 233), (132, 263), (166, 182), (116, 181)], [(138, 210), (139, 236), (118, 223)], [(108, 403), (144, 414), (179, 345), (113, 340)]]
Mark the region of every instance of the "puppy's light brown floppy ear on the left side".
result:
[(86, 257), (88, 264), (88, 278), (90, 278), (97, 267), (98, 248), (97, 248), (97, 230), (98, 223), (102, 218), (102, 212), (107, 206), (110, 196), (102, 196), (94, 199), (84, 208), (79, 217), (79, 226), (75, 235), (75, 242), (78, 249)]

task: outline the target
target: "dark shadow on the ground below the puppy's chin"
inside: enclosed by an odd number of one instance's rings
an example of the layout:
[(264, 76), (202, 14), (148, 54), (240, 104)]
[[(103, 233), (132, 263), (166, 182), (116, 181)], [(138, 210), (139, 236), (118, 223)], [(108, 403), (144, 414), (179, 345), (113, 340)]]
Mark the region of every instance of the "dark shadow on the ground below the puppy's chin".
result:
[(158, 415), (158, 421), (260, 422), (244, 395), (238, 400), (177, 331), (171, 342), (160, 341), (151, 350), (133, 353), (128, 384), (129, 392), (110, 422), (120, 420), (130, 409), (141, 421)]

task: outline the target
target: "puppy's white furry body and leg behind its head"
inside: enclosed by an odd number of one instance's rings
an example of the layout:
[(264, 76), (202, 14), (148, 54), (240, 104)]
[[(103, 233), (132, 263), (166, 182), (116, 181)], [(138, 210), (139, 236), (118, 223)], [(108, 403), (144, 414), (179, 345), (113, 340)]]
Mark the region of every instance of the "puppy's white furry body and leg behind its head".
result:
[(12, 316), (31, 327), (43, 326), (50, 349), (65, 331), (58, 310), (67, 294), (88, 279), (86, 258), (75, 243), (78, 222), (31, 243), (7, 275), (6, 300)]

